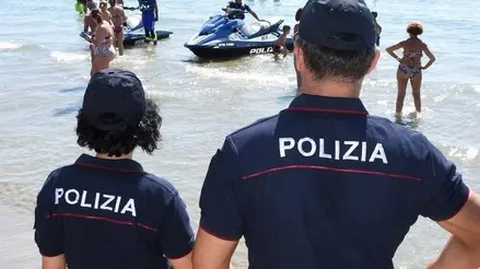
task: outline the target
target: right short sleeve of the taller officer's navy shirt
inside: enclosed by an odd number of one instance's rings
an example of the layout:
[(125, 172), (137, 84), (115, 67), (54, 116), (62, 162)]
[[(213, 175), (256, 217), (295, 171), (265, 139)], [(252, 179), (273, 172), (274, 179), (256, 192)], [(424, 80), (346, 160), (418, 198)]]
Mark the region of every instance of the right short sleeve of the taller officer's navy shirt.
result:
[(424, 191), (426, 204), (421, 214), (434, 221), (453, 218), (465, 204), (469, 188), (455, 164), (424, 138), (426, 155), (424, 167)]

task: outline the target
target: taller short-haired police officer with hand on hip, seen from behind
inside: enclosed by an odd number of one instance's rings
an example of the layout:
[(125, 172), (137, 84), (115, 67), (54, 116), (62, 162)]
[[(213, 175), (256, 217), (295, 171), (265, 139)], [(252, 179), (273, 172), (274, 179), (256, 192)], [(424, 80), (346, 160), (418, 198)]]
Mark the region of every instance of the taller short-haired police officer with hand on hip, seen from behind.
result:
[(429, 268), (480, 266), (480, 199), (420, 132), (359, 98), (379, 57), (363, 0), (311, 0), (294, 48), (298, 95), (227, 136), (200, 197), (194, 267), (387, 269), (419, 215), (453, 235)]

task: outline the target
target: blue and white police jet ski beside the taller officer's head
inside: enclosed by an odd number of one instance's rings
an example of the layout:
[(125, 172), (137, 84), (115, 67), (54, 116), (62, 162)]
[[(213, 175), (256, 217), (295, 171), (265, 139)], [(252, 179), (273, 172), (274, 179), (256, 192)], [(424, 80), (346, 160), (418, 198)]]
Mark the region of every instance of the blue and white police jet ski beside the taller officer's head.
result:
[[(283, 20), (273, 24), (268, 21), (245, 23), (245, 13), (229, 9), (223, 15), (211, 16), (184, 46), (201, 58), (272, 54), (273, 44), (282, 34)], [(285, 46), (293, 49), (292, 37), (285, 38)]]

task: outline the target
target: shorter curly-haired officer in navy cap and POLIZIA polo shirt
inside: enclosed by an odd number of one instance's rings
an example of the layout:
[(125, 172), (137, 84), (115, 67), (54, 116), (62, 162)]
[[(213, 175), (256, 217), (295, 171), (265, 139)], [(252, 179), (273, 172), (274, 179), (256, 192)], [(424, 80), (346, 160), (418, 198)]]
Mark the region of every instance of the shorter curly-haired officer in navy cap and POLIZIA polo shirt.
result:
[(50, 173), (37, 197), (35, 242), (44, 269), (191, 268), (194, 233), (172, 184), (133, 161), (151, 154), (162, 118), (130, 71), (96, 72), (77, 116), (82, 154)]

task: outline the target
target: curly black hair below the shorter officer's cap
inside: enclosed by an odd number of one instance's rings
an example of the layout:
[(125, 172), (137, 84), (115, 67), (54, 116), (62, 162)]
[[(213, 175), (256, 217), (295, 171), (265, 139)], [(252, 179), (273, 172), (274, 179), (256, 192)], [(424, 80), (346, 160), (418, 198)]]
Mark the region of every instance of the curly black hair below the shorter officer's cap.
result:
[(127, 127), (122, 131), (104, 131), (93, 127), (80, 109), (77, 115), (77, 143), (80, 147), (95, 150), (97, 153), (108, 154), (108, 156), (128, 154), (137, 147), (152, 154), (161, 141), (159, 130), (161, 126), (162, 117), (159, 115), (159, 106), (149, 98), (140, 124)]

